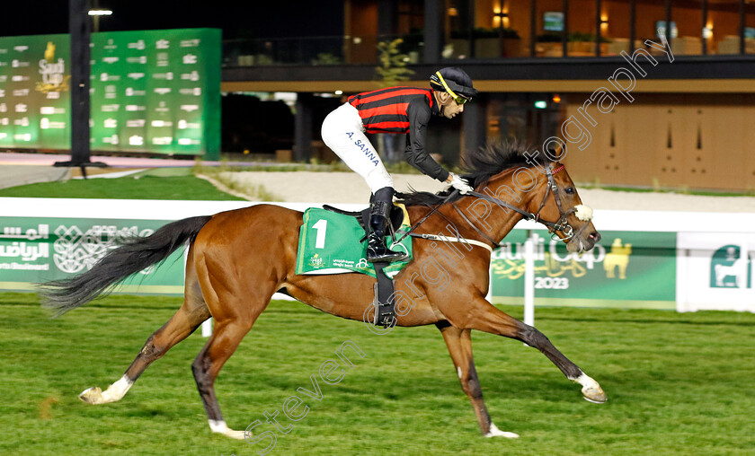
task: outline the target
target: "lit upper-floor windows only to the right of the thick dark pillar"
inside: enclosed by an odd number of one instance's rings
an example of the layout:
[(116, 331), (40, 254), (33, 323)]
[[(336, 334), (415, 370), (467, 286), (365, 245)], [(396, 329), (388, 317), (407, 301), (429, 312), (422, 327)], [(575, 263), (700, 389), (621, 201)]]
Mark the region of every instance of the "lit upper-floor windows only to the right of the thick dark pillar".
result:
[(755, 51), (755, 4), (744, 0), (447, 0), (446, 4), (446, 58), (610, 57), (647, 48), (644, 41), (657, 42), (659, 29), (671, 42), (674, 55)]

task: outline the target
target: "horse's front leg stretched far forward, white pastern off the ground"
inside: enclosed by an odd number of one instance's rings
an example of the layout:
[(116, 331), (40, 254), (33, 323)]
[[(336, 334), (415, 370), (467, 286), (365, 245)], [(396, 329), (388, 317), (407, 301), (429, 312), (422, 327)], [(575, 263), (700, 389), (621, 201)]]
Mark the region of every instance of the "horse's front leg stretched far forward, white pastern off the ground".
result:
[(473, 302), (468, 305), (470, 307), (457, 312), (456, 315), (446, 315), (451, 324), (458, 328), (476, 329), (507, 338), (515, 338), (528, 346), (534, 346), (546, 355), (564, 373), (567, 379), (582, 385), (584, 399), (596, 404), (602, 404), (608, 400), (606, 393), (600, 388), (600, 384), (583, 373), (577, 364), (569, 361), (543, 333), (496, 309), (482, 296), (476, 296)]

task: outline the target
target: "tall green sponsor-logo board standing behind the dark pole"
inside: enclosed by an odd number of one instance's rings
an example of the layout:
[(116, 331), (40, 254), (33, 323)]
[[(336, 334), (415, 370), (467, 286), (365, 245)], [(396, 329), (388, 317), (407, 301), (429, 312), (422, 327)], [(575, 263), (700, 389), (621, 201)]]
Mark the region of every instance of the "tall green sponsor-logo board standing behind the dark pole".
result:
[[(220, 151), (220, 31), (93, 33), (93, 151)], [(0, 38), (0, 147), (70, 149), (68, 35)]]

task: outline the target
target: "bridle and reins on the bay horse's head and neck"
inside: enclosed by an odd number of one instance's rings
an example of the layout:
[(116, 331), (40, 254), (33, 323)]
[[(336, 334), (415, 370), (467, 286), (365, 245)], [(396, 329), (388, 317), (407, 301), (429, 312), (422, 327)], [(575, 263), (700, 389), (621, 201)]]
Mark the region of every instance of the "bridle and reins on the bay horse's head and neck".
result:
[[(546, 176), (547, 176), (547, 179), (548, 179), (548, 185), (547, 185), (547, 188), (546, 188), (546, 194), (545, 194), (545, 196), (543, 196), (543, 201), (540, 203), (540, 206), (537, 208), (537, 211), (534, 212), (534, 213), (525, 211), (523, 209), (520, 209), (519, 207), (511, 206), (509, 203), (507, 203), (507, 202), (505, 202), (502, 199), (499, 199), (497, 197), (491, 197), (490, 195), (485, 195), (484, 193), (479, 193), (479, 192), (476, 192), (476, 191), (466, 192), (464, 194), (464, 196), (478, 197), (478, 198), (484, 199), (485, 201), (489, 201), (491, 203), (494, 203), (497, 206), (502, 206), (502, 207), (506, 207), (508, 209), (511, 209), (512, 211), (517, 212), (517, 213), (523, 215), (523, 217), (524, 217), (525, 220), (534, 220), (538, 224), (545, 225), (546, 228), (548, 229), (548, 232), (551, 233), (551, 238), (552, 239), (555, 239), (555, 240), (561, 239), (562, 241), (569, 241), (574, 236), (574, 229), (573, 229), (572, 225), (569, 224), (569, 222), (566, 220), (566, 217), (569, 216), (569, 215), (574, 214), (577, 211), (577, 209), (573, 207), (573, 208), (571, 208), (571, 209), (569, 209), (567, 211), (564, 211), (564, 206), (561, 204), (561, 198), (559, 197), (558, 186), (555, 184), (555, 179), (554, 179), (554, 174), (556, 174), (559, 171), (564, 170), (564, 165), (562, 164), (561, 166), (559, 166), (558, 168), (556, 168), (554, 170), (553, 169), (553, 163), (546, 163), (545, 168), (546, 168)], [(558, 220), (555, 221), (555, 222), (548, 222), (548, 221), (543, 220), (542, 218), (540, 218), (540, 211), (542, 211), (543, 207), (546, 206), (546, 200), (548, 198), (548, 194), (550, 194), (551, 192), (553, 193), (553, 197), (555, 199), (555, 206), (558, 207)], [(431, 212), (428, 215), (425, 215), (422, 218), (422, 220), (420, 220), (420, 222), (418, 222), (417, 224), (414, 224), (414, 226), (411, 228), (411, 230), (409, 230), (408, 232), (404, 232), (404, 235), (401, 236), (401, 238), (399, 238), (398, 241), (401, 241), (402, 239), (404, 239), (404, 237), (406, 235), (411, 235), (411, 236), (416, 236), (416, 237), (422, 237), (421, 234), (416, 234), (413, 231), (418, 226), (420, 226), (425, 220), (427, 220), (435, 211), (437, 211), (438, 208), (440, 208), (440, 206), (443, 206), (443, 204), (445, 204), (446, 202), (448, 202), (452, 197), (456, 197), (457, 194), (458, 194), (458, 190), (455, 189), (453, 192), (451, 192), (449, 194), (448, 197), (445, 198), (445, 200), (442, 203), (440, 203), (439, 205), (433, 207), (432, 210), (431, 210)], [(453, 206), (453, 208), (456, 209), (458, 215), (461, 215), (461, 218), (464, 219), (464, 221), (466, 222), (466, 224), (468, 224), (469, 226), (471, 226), (475, 230), (475, 232), (479, 233), (487, 241), (490, 241), (493, 244), (494, 248), (498, 247), (498, 242), (495, 241), (490, 236), (488, 236), (487, 234), (485, 234), (482, 230), (480, 230), (479, 228), (477, 228), (477, 226), (471, 220), (469, 220), (469, 218), (466, 215), (464, 215), (464, 213), (461, 211), (461, 209), (458, 208), (458, 206), (456, 205), (456, 203), (451, 203), (451, 206)], [(442, 215), (442, 214), (440, 214), (440, 215)], [(443, 216), (445, 217), (445, 215), (443, 215)], [(559, 238), (558, 234), (556, 234), (555, 232), (563, 232), (564, 233), (564, 237), (563, 238)], [(460, 238), (460, 235), (458, 234), (458, 232), (457, 232), (457, 238)]]

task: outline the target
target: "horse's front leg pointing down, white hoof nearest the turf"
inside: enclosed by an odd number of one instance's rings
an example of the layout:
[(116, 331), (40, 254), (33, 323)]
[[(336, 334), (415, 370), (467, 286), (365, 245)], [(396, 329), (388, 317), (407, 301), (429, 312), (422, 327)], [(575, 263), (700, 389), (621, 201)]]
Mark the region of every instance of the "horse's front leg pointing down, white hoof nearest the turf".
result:
[(458, 380), (461, 382), (461, 389), (469, 396), (472, 407), (475, 408), (477, 422), (480, 425), (480, 431), (485, 437), (508, 437), (517, 438), (518, 434), (503, 432), (493, 425), (487, 408), (483, 400), (483, 389), (480, 387), (480, 381), (477, 378), (475, 370), (475, 361), (472, 358), (472, 338), (470, 329), (458, 329), (450, 326), (448, 322), (437, 323), (440, 334), (449, 347), (449, 354), (456, 365)]

